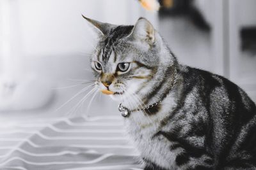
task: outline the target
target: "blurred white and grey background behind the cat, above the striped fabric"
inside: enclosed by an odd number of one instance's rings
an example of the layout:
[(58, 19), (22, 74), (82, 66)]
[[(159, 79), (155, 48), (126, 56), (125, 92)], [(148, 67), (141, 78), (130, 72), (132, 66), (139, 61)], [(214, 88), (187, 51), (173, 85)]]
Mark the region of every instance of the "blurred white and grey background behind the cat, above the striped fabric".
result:
[(1, 0), (0, 119), (119, 114), (118, 103), (83, 90), (96, 36), (81, 14), (124, 25), (146, 17), (180, 63), (221, 74), (256, 101), (256, 1), (159, 3), (147, 11), (138, 0)]

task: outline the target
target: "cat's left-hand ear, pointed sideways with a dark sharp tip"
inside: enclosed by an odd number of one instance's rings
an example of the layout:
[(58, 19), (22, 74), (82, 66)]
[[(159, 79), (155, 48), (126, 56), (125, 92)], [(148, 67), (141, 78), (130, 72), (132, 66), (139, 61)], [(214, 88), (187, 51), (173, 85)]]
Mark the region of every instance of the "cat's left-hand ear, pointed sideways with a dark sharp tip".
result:
[(82, 15), (82, 16), (84, 19), (86, 19), (92, 25), (93, 29), (99, 36), (107, 35), (111, 31), (111, 29), (113, 29), (113, 27), (116, 27), (116, 25), (113, 25), (113, 24), (102, 23), (97, 20), (93, 20), (91, 18), (84, 17), (84, 15)]

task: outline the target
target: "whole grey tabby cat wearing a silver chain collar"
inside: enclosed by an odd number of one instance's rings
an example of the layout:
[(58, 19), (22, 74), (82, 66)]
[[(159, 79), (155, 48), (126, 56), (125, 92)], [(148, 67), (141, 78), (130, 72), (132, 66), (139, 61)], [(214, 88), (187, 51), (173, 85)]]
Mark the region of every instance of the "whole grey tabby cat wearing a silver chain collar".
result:
[(120, 101), (144, 169), (256, 169), (256, 106), (242, 89), (179, 64), (146, 18), (135, 25), (84, 18), (99, 37), (96, 85)]

